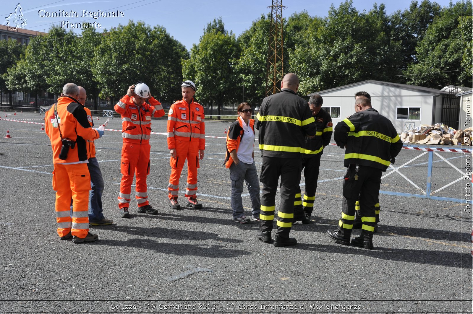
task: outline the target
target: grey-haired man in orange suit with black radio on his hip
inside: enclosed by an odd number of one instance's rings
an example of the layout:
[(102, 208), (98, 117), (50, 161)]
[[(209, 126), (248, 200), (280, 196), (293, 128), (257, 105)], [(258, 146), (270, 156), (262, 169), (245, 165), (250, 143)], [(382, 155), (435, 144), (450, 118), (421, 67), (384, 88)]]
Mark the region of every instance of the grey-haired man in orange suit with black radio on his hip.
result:
[[(100, 138), (104, 131), (93, 130), (84, 107), (79, 104), (79, 88), (68, 83), (58, 102), (44, 115), (45, 131), (53, 148), (53, 189), (56, 191), (56, 221), (61, 240), (93, 242), (97, 235), (88, 232), (90, 175), (86, 140)], [(70, 200), (72, 199), (72, 217)]]

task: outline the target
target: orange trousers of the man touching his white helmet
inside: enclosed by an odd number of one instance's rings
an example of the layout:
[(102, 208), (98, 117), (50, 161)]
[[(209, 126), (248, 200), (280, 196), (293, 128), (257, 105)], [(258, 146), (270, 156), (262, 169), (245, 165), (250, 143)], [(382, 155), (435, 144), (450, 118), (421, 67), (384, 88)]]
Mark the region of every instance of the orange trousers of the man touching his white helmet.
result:
[(118, 207), (130, 206), (131, 183), (136, 174), (135, 198), (138, 207), (149, 205), (146, 176), (149, 174), (149, 143), (137, 144), (123, 142), (122, 162), (120, 172), (122, 182), (120, 183), (120, 194), (118, 195)]

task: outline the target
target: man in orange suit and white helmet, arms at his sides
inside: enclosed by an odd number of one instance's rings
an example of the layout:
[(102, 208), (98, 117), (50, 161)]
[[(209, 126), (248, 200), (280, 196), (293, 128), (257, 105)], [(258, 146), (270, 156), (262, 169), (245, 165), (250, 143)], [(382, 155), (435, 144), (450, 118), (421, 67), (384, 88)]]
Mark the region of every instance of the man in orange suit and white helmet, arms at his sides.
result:
[(177, 202), (179, 177), (187, 159), (186, 206), (202, 208), (197, 201), (197, 168), (199, 159), (204, 157), (205, 125), (204, 109), (193, 101), (195, 84), (184, 81), (181, 85), (182, 100), (176, 101), (169, 109), (167, 117), (167, 148), (171, 153), (171, 176), (169, 177), (169, 206), (181, 209)]

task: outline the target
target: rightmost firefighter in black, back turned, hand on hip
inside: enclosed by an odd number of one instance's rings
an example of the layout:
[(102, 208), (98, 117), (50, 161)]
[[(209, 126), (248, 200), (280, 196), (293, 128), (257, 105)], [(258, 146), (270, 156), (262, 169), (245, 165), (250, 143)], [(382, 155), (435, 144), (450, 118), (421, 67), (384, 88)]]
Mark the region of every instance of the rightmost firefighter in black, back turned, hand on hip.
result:
[(338, 230), (327, 230), (336, 243), (349, 245), (355, 219), (355, 202), (359, 196), (362, 219), (361, 235), (351, 244), (373, 248), (375, 204), (377, 203), (381, 172), (393, 163), (403, 143), (393, 123), (371, 107), (371, 101), (359, 97), (355, 101), (355, 114), (335, 126), (334, 139), (345, 148), (342, 218)]

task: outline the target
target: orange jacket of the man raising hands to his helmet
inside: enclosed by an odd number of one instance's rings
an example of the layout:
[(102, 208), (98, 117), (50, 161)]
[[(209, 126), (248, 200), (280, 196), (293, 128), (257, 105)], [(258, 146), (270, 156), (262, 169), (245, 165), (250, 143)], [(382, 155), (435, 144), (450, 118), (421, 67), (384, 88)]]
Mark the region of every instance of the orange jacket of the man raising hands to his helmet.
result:
[(146, 144), (151, 134), (151, 117), (159, 118), (164, 115), (160, 102), (153, 97), (138, 108), (133, 103), (133, 96), (125, 95), (114, 106), (117, 113), (122, 115), (122, 137), (124, 142)]

